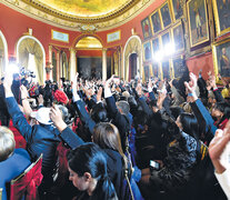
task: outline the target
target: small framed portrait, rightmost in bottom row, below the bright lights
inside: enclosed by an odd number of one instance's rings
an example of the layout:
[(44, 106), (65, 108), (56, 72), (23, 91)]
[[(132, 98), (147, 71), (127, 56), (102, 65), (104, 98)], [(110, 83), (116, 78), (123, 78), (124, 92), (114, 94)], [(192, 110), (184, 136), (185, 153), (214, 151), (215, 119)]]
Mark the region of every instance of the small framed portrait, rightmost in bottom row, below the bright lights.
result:
[(184, 72), (188, 71), (187, 67), (183, 64), (183, 57), (176, 57), (172, 59), (174, 78), (181, 78)]

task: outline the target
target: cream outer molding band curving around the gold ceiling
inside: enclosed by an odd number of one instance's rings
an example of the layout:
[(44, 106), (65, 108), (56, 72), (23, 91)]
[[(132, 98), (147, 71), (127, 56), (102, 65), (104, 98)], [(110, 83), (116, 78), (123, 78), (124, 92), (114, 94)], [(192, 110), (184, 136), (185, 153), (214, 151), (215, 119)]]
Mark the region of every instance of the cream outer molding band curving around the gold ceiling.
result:
[(91, 18), (88, 18), (89, 21), (83, 20), (82, 22), (56, 17), (49, 13), (48, 10), (40, 10), (32, 7), (28, 3), (29, 1), (30, 0), (2, 0), (1, 3), (30, 18), (66, 30), (81, 31), (80, 27), (82, 27), (82, 24), (93, 24), (97, 28), (97, 31), (106, 31), (120, 27), (132, 20), (144, 9), (150, 7), (156, 0), (134, 0), (136, 3), (132, 4), (132, 7), (129, 7), (129, 9), (122, 10), (119, 13), (120, 16), (118, 14), (114, 18), (104, 18), (101, 21), (92, 21), (90, 20)]

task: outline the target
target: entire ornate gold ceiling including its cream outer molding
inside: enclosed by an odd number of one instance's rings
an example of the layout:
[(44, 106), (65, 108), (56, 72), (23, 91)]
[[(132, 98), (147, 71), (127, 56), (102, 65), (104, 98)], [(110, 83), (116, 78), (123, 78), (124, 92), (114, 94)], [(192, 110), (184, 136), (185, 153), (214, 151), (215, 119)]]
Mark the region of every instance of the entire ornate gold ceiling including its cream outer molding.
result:
[(126, 23), (154, 0), (1, 0), (6, 6), (69, 30), (108, 30)]

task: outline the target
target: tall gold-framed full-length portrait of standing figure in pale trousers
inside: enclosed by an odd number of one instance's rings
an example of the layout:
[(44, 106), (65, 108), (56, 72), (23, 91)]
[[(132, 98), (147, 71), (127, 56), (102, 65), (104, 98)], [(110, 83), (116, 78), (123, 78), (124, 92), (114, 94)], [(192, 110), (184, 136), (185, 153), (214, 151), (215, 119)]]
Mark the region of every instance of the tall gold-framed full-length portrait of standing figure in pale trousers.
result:
[(190, 44), (194, 47), (209, 40), (207, 2), (206, 0), (189, 0), (187, 8)]

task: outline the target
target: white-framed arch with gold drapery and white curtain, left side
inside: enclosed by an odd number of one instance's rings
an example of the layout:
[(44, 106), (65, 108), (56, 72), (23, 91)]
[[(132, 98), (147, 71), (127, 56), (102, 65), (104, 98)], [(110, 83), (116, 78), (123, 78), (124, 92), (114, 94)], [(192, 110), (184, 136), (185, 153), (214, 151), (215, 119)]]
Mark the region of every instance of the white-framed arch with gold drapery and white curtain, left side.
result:
[(36, 80), (43, 83), (46, 80), (46, 52), (41, 42), (32, 36), (23, 36), (17, 43), (17, 63), (27, 70), (33, 71)]

